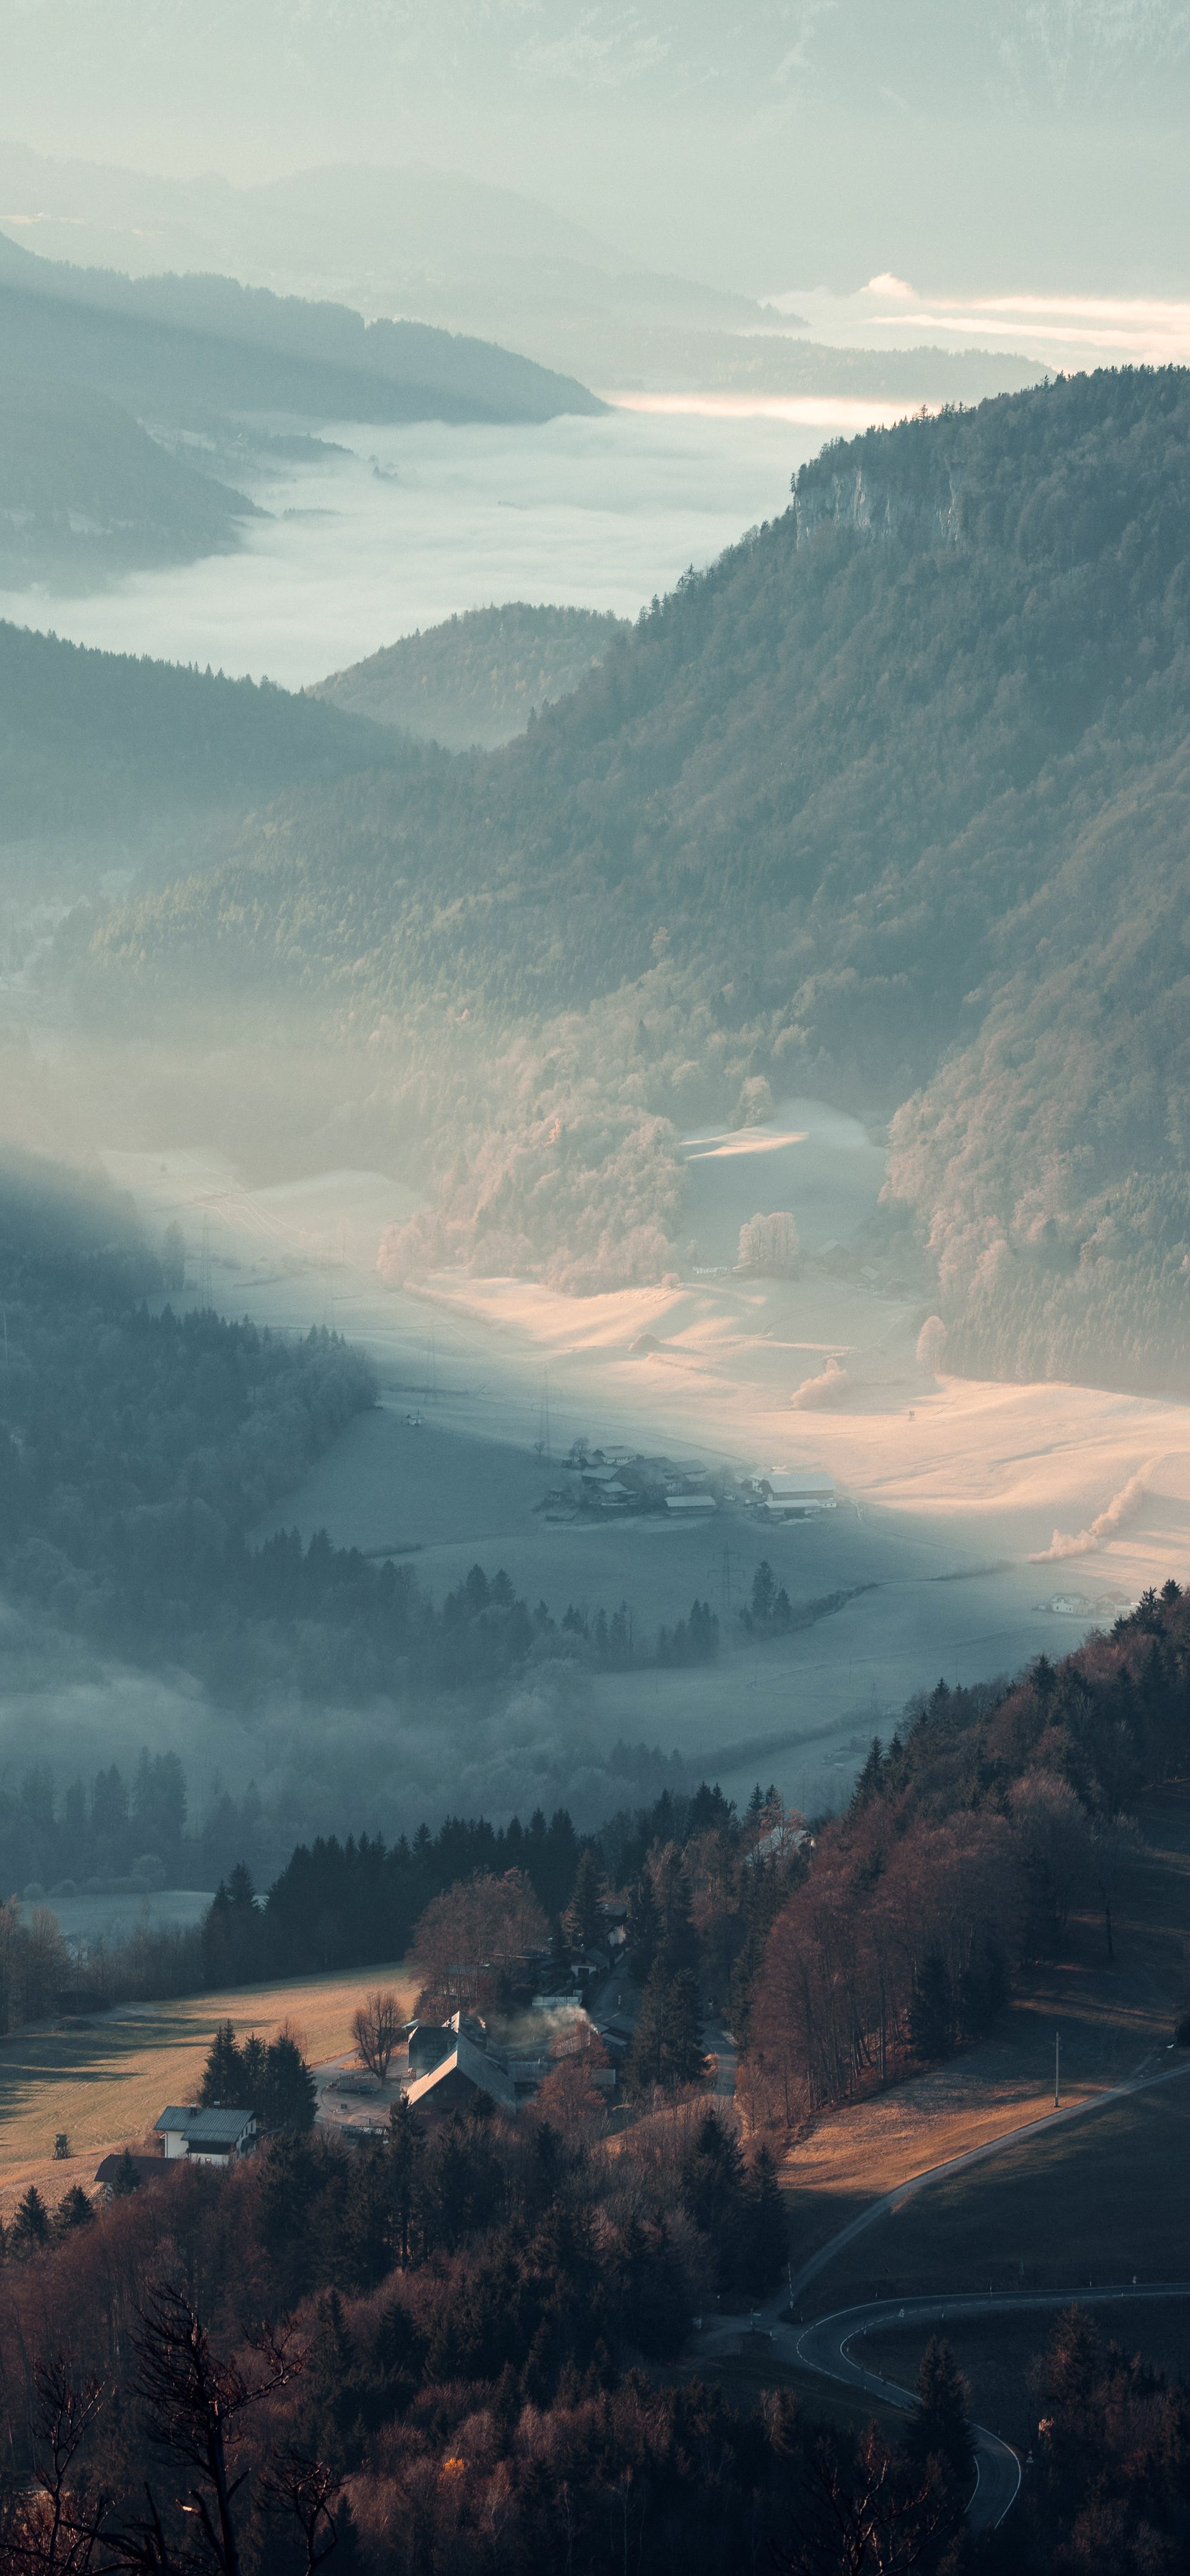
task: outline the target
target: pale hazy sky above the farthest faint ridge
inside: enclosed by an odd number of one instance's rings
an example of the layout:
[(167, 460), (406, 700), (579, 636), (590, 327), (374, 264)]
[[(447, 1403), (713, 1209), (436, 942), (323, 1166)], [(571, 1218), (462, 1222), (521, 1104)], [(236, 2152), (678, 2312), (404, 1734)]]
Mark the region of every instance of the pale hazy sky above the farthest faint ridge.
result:
[(1187, 0), (0, 0), (3, 131), (422, 157), (747, 291), (1177, 296)]

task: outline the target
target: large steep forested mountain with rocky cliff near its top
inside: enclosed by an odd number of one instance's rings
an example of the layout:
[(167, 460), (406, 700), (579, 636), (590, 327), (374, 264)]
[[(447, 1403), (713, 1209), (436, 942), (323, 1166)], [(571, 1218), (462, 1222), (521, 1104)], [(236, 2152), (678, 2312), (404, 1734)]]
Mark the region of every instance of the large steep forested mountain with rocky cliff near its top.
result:
[(644, 979), (775, 1090), (899, 1110), (971, 1365), (1182, 1381), (1187, 647), (1185, 371), (873, 430), (528, 737), (283, 801), (93, 974), (299, 956), (307, 994), (505, 1018)]

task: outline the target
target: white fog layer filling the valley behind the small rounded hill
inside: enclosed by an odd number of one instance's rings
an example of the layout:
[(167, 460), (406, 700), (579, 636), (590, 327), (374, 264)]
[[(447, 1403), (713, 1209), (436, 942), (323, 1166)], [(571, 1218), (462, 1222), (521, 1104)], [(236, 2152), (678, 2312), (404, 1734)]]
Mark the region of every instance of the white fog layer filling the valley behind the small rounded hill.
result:
[[(325, 459), (252, 479), (268, 515), (237, 554), (54, 595), (52, 623), (80, 644), (307, 688), (487, 600), (636, 616), (690, 562), (778, 515), (832, 425), (860, 428), (881, 407), (809, 412), (801, 428), (634, 412), (515, 430), (337, 422)], [(39, 603), (0, 592), (0, 616), (39, 623)]]

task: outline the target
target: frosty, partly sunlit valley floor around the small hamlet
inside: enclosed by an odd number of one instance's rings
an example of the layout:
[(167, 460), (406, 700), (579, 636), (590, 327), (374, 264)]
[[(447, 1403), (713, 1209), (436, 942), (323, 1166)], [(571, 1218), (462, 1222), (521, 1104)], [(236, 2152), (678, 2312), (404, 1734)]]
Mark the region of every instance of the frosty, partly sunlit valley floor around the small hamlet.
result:
[[(755, 1139), (726, 1144), (724, 1170), (737, 1149), (755, 1162)], [(649, 1636), (695, 1595), (711, 1600), (716, 1667), (595, 1680), (582, 1728), (598, 1759), (618, 1741), (657, 1747), (729, 1795), (747, 1798), (762, 1775), (827, 1806), (914, 1687), (1059, 1656), (1146, 1582), (1190, 1571), (1190, 1406), (927, 1376), (920, 1303), (876, 1293), (845, 1255), (840, 1275), (819, 1252), (798, 1280), (721, 1273), (600, 1298), (464, 1275), (389, 1291), (376, 1247), (410, 1195), (384, 1175), (255, 1190), (198, 1151), (106, 1162), (149, 1229), (183, 1224), (191, 1280), (216, 1306), (288, 1329), (332, 1324), (376, 1358), (384, 1412), (348, 1432), (278, 1522), (415, 1551), (435, 1595), (479, 1558), (505, 1564), (554, 1615), (569, 1600), (626, 1600)], [(842, 1200), (847, 1226), (853, 1172)], [(827, 1218), (819, 1175), (817, 1236)], [(657, 1347), (634, 1352), (641, 1334)], [(832, 1355), (842, 1399), (793, 1409), (793, 1388)], [(786, 1528), (742, 1512), (695, 1530), (549, 1522), (536, 1504), (577, 1435), (737, 1471), (822, 1463), (840, 1510)], [(762, 1556), (798, 1607), (853, 1597), (750, 1646), (737, 1607)], [(546, 1723), (556, 1731), (554, 1710)], [(469, 1777), (482, 1795), (482, 1765)]]

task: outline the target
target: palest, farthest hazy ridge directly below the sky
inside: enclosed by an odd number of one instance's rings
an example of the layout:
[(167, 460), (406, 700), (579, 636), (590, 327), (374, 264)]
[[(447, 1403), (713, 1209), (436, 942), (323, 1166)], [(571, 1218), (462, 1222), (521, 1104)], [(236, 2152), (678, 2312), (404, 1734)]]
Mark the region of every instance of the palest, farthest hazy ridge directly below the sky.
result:
[(234, 188), (0, 142), (0, 209), (54, 260), (116, 263), (155, 286), (162, 270), (188, 283), (224, 273), (278, 301), (332, 296), (500, 340), (605, 392), (858, 392), (917, 404), (976, 402), (1041, 376), (1028, 355), (979, 348), (804, 343), (796, 314), (752, 294), (631, 263), (531, 196), (425, 165), (312, 167)]

